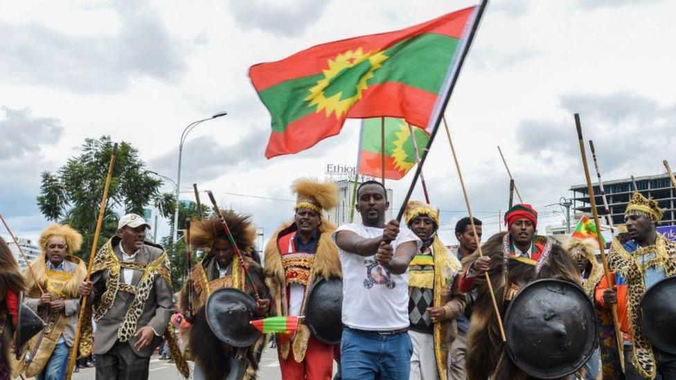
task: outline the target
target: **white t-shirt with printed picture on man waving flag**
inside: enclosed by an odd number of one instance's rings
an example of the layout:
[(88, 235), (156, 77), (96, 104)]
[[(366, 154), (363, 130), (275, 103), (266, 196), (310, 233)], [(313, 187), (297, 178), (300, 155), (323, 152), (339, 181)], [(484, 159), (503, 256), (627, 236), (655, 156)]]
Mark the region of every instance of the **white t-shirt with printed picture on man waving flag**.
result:
[[(382, 236), (383, 228), (362, 224), (344, 224), (340, 231), (352, 231), (366, 239)], [(422, 242), (408, 228), (400, 228), (399, 235), (391, 243), (395, 252), (399, 244)], [(359, 256), (338, 247), (343, 270), (343, 315), (344, 325), (362, 330), (395, 330), (409, 326), (409, 270), (401, 275), (389, 273), (375, 261), (375, 256)]]

